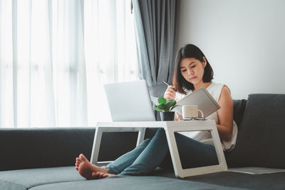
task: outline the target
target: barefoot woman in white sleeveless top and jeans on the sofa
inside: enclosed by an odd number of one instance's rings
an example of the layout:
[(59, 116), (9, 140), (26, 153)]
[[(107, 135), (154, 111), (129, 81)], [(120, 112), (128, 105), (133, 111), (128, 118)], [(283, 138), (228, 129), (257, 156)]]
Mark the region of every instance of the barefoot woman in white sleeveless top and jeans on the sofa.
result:
[[(224, 151), (234, 148), (237, 139), (237, 124), (233, 121), (233, 102), (230, 91), (223, 84), (212, 82), (213, 71), (202, 51), (188, 44), (177, 53), (173, 86), (168, 86), (165, 99), (181, 99), (202, 87), (214, 97), (221, 109), (207, 119), (214, 119)], [(177, 91), (175, 91), (176, 89)], [(181, 117), (181, 116), (178, 116)], [(218, 164), (212, 136), (209, 131), (175, 133), (182, 168)], [(100, 179), (114, 175), (146, 175), (157, 166), (171, 167), (164, 129), (158, 129), (152, 139), (142, 141), (133, 151), (120, 156), (107, 166), (99, 167), (81, 154), (76, 158), (76, 170), (86, 179)]]

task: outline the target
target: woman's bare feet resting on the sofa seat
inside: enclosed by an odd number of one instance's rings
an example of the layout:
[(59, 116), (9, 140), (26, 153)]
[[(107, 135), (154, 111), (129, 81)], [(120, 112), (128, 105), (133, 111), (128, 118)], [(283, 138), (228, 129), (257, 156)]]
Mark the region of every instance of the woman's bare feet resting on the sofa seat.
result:
[(105, 167), (99, 167), (91, 164), (83, 154), (79, 155), (79, 157), (76, 158), (76, 170), (79, 172), (79, 174), (81, 174), (81, 176), (85, 177), (86, 179), (100, 179), (100, 177), (93, 176), (93, 172), (100, 172), (103, 174), (109, 173), (108, 169)]

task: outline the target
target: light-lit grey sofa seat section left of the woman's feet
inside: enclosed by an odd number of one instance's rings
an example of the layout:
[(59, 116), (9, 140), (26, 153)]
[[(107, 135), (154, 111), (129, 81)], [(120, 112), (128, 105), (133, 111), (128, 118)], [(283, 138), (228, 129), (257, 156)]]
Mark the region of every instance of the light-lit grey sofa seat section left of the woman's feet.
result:
[(86, 181), (73, 166), (0, 171), (0, 189), (29, 189), (66, 181)]

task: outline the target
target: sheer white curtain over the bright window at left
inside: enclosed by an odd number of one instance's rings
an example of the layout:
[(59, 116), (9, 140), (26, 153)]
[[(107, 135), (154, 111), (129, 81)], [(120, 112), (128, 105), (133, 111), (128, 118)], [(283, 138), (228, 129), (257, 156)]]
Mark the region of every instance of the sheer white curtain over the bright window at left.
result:
[(109, 120), (103, 84), (138, 79), (130, 0), (0, 0), (0, 127)]

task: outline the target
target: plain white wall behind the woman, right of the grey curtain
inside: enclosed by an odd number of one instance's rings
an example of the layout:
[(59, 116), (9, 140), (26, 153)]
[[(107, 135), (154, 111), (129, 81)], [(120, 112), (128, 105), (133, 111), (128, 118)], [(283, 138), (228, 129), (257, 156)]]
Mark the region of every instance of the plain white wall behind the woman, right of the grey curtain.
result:
[(285, 94), (285, 1), (181, 0), (177, 49), (195, 44), (233, 99)]

